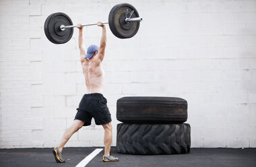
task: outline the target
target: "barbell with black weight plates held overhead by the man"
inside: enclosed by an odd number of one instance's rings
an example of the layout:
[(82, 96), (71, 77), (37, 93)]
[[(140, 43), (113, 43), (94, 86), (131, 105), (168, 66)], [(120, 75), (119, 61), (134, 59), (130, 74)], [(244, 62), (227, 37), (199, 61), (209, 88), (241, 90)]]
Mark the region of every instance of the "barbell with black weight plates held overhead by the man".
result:
[[(108, 15), (108, 22), (111, 32), (118, 38), (131, 38), (139, 30), (139, 13), (129, 3), (115, 5)], [(93, 24), (82, 24), (81, 26), (94, 26)], [(54, 44), (64, 44), (73, 36), (73, 22), (65, 13), (52, 13), (44, 22), (44, 34)]]

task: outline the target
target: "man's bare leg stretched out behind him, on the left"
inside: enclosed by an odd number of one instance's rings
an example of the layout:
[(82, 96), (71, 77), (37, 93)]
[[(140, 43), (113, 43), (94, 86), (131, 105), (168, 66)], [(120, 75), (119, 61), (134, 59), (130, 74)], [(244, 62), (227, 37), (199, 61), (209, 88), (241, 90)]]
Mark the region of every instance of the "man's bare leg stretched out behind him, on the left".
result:
[(69, 141), (70, 137), (73, 135), (73, 133), (77, 132), (80, 128), (82, 128), (84, 125), (84, 121), (80, 121), (78, 119), (75, 119), (73, 121), (73, 124), (69, 129), (67, 129), (61, 139), (61, 143), (59, 144), (59, 151), (62, 152), (62, 149), (64, 145)]

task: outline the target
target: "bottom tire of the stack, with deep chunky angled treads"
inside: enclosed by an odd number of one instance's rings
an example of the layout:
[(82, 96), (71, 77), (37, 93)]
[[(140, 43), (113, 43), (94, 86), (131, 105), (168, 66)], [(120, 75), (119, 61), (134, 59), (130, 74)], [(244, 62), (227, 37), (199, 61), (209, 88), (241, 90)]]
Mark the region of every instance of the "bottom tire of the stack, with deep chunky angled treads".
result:
[(118, 124), (117, 152), (123, 154), (187, 154), (189, 124)]

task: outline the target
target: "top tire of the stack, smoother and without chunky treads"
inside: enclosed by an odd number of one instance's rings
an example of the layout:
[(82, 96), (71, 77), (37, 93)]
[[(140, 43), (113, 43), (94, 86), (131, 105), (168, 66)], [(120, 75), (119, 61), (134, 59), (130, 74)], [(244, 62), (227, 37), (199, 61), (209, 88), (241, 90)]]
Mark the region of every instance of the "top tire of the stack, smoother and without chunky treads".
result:
[(184, 123), (187, 101), (169, 97), (124, 97), (117, 100), (117, 120), (123, 123)]

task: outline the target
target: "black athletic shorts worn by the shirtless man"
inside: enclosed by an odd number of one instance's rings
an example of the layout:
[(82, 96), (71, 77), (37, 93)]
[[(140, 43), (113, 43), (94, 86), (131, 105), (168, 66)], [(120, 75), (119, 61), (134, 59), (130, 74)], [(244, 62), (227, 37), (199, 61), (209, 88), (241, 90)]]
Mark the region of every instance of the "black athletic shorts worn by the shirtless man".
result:
[(84, 126), (91, 125), (92, 118), (96, 125), (110, 123), (111, 114), (106, 102), (106, 98), (102, 94), (85, 94), (79, 103), (75, 119), (85, 121)]

